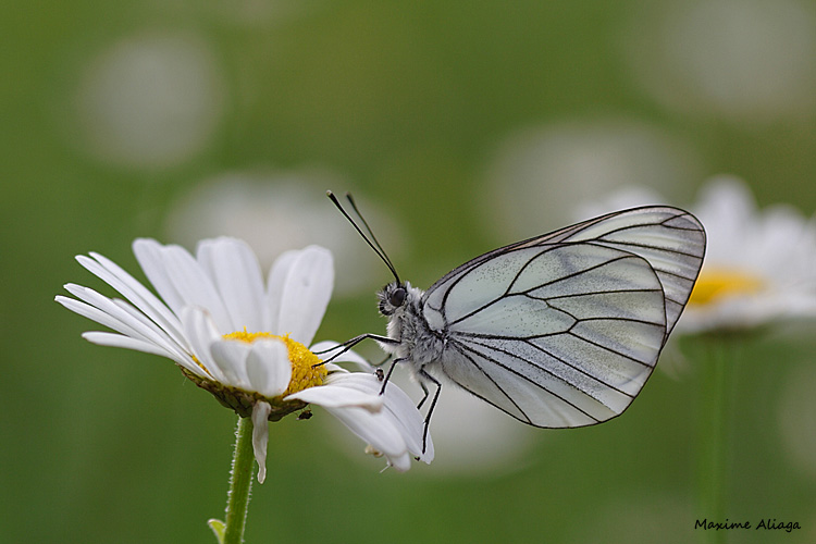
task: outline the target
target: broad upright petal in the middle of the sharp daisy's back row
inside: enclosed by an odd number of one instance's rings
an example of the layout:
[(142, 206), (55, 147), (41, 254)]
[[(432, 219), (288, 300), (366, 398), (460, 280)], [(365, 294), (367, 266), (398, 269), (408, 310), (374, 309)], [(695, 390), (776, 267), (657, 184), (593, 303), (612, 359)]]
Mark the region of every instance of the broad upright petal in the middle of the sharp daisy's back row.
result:
[(249, 246), (226, 237), (202, 240), (196, 258), (221, 294), (233, 329), (264, 331), (263, 277), (258, 258)]

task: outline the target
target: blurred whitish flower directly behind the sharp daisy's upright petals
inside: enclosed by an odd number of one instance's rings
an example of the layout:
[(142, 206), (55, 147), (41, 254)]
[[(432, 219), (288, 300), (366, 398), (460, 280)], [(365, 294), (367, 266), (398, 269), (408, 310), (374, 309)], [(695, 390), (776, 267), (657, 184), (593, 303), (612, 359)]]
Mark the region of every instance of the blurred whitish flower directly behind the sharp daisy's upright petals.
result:
[[(320, 244), (336, 259), (336, 296), (373, 293), (390, 280), (385, 265), (325, 196), (347, 183), (327, 171), (227, 172), (205, 180), (168, 213), (166, 233), (184, 245), (218, 235), (245, 239), (262, 267), (286, 249)], [(387, 210), (355, 198), (392, 259), (404, 239)]]

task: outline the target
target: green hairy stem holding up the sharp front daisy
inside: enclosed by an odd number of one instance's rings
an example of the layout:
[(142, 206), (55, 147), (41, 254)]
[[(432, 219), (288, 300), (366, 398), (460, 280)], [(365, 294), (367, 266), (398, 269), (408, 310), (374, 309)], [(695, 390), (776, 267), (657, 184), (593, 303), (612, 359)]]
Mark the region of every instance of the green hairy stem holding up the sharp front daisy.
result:
[(238, 418), (235, 430), (235, 454), (230, 474), (230, 491), (226, 495), (226, 529), (224, 544), (244, 542), (244, 528), (249, 510), (249, 493), (252, 489), (252, 418)]

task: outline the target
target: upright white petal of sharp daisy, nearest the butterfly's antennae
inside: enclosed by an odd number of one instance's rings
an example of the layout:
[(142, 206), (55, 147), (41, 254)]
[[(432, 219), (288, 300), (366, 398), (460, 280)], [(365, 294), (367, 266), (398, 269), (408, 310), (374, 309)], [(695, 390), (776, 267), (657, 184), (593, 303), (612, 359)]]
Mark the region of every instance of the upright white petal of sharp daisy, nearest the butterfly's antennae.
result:
[[(272, 279), (270, 289), (271, 281)], [(272, 332), (289, 333), (292, 339), (309, 345), (323, 320), (333, 285), (334, 264), (331, 251), (319, 246), (309, 246), (299, 251), (294, 262), (288, 263), (281, 294), (277, 330)]]

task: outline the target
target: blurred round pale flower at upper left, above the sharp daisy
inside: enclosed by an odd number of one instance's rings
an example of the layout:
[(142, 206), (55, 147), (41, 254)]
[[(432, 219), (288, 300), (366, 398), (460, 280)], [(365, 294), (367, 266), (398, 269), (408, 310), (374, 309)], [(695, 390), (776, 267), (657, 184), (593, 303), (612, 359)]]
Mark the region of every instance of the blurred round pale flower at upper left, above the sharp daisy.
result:
[(209, 44), (189, 32), (145, 30), (86, 66), (76, 131), (92, 156), (148, 170), (191, 159), (224, 113), (226, 82)]

